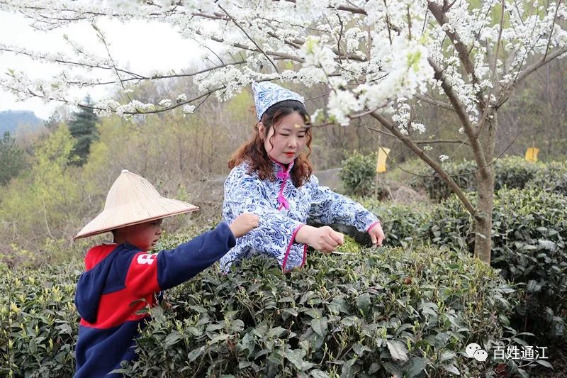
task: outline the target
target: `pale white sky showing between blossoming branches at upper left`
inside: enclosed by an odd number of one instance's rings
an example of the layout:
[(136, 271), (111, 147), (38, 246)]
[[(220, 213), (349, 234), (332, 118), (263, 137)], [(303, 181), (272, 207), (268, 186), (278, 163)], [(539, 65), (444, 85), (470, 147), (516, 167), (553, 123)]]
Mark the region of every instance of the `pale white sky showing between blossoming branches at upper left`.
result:
[[(29, 26), (30, 21), (18, 13), (0, 11), (0, 43), (23, 46), (29, 50), (44, 52), (70, 51), (63, 35), (81, 43), (87, 50), (97, 52), (106, 57), (106, 50), (96, 38), (96, 31), (89, 23), (67, 26), (50, 31), (35, 31)], [(198, 59), (198, 46), (192, 40), (182, 39), (176, 31), (166, 23), (101, 20), (97, 26), (103, 30), (111, 43), (109, 50), (121, 67), (129, 67), (134, 72), (147, 73), (153, 70), (179, 70), (191, 65)], [(151, 45), (152, 48), (147, 47)], [(197, 53), (196, 53), (197, 52)], [(0, 52), (0, 75), (8, 69), (21, 70), (33, 78), (45, 78), (60, 72), (55, 65), (37, 62), (26, 57), (16, 56), (9, 52)], [(99, 99), (108, 89), (83, 89), (72, 92), (75, 99), (82, 99), (90, 94)], [(47, 119), (60, 104), (45, 104), (40, 99), (16, 101), (16, 97), (0, 88), (0, 111), (30, 110), (39, 118)]]

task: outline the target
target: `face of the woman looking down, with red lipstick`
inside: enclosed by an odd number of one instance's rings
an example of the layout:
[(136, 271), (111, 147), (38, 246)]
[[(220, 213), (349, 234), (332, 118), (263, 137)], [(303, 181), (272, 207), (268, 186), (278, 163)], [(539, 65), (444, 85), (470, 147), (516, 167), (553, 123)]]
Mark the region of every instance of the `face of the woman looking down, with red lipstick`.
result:
[[(258, 130), (260, 135), (264, 135), (266, 129), (260, 123)], [(264, 138), (264, 148), (269, 157), (276, 162), (289, 164), (303, 151), (307, 143), (306, 133), (307, 128), (303, 117), (293, 112), (281, 118), (278, 124), (270, 128), (268, 135)]]

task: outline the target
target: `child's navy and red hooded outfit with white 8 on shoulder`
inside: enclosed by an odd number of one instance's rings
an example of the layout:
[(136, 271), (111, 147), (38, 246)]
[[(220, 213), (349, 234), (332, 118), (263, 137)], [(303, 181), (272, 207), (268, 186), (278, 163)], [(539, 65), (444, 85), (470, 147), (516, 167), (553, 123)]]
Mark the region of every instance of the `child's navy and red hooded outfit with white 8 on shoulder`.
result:
[(75, 377), (104, 377), (121, 361), (135, 360), (135, 338), (149, 318), (140, 310), (155, 306), (159, 291), (191, 279), (235, 244), (227, 223), (220, 223), (155, 255), (129, 244), (91, 248), (75, 294), (81, 315)]

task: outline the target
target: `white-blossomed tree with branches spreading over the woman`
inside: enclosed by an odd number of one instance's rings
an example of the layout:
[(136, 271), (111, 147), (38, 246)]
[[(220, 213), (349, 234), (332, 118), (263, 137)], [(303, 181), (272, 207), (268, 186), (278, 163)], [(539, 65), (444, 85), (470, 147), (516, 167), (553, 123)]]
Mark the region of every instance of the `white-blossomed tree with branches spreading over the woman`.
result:
[[(128, 93), (132, 84), (176, 77), (193, 77), (200, 91), (157, 104), (130, 98), (123, 104), (103, 99), (92, 106), (101, 116), (128, 117), (178, 107), (189, 114), (211, 94), (228, 99), (253, 81), (327, 84), (327, 109), (318, 109), (312, 118), (343, 126), (354, 118), (373, 118), (402, 140), (449, 184), (474, 217), (475, 255), (487, 263), (498, 109), (518, 83), (567, 52), (567, 33), (561, 27), (567, 9), (561, 0), (2, 0), (0, 9), (26, 14), (39, 29), (89, 21), (104, 45), (107, 37), (96, 27), (99, 18), (166, 22), (210, 51), (210, 65), (204, 70), (147, 75), (126, 70), (111, 56), (90, 55), (70, 39), (70, 56), (0, 45), (0, 51), (64, 68), (48, 80), (32, 80), (16, 71), (1, 77), (0, 85), (21, 99), (36, 96), (72, 103), (73, 87), (111, 84)], [(222, 54), (213, 51), (219, 46)], [(74, 73), (74, 67), (88, 70), (88, 75)], [(456, 140), (447, 142), (461, 143), (476, 160), (476, 204), (442, 169), (439, 160), (447, 157), (428, 154), (437, 141), (412, 138), (430, 125), (419, 122), (411, 101), (458, 116)]]

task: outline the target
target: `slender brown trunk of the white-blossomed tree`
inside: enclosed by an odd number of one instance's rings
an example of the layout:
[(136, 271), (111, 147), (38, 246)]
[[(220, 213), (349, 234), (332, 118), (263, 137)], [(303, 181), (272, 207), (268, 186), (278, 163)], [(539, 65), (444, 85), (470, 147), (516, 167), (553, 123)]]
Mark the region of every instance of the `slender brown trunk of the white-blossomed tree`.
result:
[(490, 251), (492, 250), (492, 213), (494, 204), (494, 145), (498, 126), (496, 112), (490, 112), (478, 140), (483, 149), (486, 167), (478, 167), (476, 182), (478, 184), (478, 204), (476, 204), (475, 217), (475, 243), (474, 256), (490, 265)]

